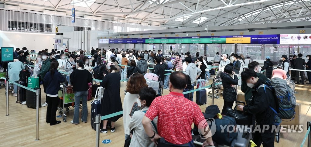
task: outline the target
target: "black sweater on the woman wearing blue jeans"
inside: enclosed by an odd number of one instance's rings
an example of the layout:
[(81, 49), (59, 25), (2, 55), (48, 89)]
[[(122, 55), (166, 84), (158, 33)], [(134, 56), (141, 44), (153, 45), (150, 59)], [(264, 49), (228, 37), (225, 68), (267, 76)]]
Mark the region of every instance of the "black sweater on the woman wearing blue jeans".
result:
[(88, 90), (88, 83), (91, 83), (92, 80), (92, 74), (86, 69), (78, 68), (70, 74), (70, 83), (73, 85), (73, 91)]

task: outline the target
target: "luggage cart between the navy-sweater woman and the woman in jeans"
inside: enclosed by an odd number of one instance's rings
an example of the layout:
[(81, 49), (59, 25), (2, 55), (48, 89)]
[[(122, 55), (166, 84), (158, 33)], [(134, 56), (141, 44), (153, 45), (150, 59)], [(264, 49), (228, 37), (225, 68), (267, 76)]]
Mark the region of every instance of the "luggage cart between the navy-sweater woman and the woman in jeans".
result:
[[(63, 97), (59, 98), (60, 101), (58, 103), (58, 113), (62, 114), (63, 122), (67, 122), (67, 115), (66, 113), (70, 111), (74, 111), (74, 93), (69, 92), (67, 93), (67, 88), (72, 88), (72, 86), (67, 86), (64, 83), (61, 83), (61, 87), (63, 88)], [(80, 101), (81, 104), (81, 101)], [(82, 106), (80, 105), (79, 109), (82, 109)], [(81, 110), (82, 111), (82, 110)]]

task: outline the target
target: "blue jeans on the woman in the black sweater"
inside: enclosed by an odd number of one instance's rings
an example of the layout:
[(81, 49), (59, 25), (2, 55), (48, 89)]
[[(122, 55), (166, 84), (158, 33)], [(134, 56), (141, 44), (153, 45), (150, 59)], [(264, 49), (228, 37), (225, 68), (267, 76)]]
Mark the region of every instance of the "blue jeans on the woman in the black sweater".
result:
[(81, 119), (83, 122), (87, 122), (87, 95), (88, 90), (86, 91), (76, 91), (75, 92), (75, 110), (73, 114), (73, 122), (79, 123), (79, 108), (80, 108), (80, 100), (82, 99), (82, 115)]

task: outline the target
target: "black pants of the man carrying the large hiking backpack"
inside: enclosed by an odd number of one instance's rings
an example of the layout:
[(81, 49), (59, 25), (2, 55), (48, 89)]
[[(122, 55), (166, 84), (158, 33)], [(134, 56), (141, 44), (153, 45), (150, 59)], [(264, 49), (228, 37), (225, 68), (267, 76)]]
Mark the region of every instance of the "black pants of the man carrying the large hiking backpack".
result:
[[(260, 130), (262, 131), (263, 125), (259, 125)], [(260, 133), (259, 131), (254, 132), (254, 143), (257, 146), (262, 146), (263, 147), (274, 147), (274, 138), (275, 138), (275, 131), (273, 130), (272, 132), (272, 126), (269, 125), (268, 130), (264, 130), (264, 132)], [(267, 127), (265, 127), (267, 128)]]

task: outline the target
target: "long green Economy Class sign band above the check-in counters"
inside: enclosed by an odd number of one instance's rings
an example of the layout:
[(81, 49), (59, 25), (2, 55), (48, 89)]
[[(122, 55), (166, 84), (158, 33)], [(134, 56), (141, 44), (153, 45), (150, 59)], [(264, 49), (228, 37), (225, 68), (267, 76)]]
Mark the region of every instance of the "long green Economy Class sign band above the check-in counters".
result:
[(225, 44), (226, 38), (146, 39), (146, 44)]

